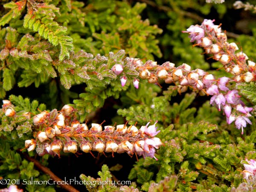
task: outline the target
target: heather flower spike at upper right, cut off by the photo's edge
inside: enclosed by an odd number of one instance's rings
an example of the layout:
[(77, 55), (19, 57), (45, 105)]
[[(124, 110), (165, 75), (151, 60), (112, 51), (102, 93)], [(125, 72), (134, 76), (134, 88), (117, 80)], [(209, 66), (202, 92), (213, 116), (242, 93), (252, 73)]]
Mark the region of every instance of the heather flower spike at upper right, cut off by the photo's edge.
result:
[(244, 52), (236, 52), (239, 50), (236, 43), (228, 43), (221, 25), (214, 25), (214, 21), (205, 19), (201, 25), (192, 25), (183, 32), (189, 33), (190, 42), (195, 41), (196, 46), (203, 47), (205, 53), (220, 61), (225, 70), (234, 75), (234, 81), (256, 81), (255, 62), (248, 60)]

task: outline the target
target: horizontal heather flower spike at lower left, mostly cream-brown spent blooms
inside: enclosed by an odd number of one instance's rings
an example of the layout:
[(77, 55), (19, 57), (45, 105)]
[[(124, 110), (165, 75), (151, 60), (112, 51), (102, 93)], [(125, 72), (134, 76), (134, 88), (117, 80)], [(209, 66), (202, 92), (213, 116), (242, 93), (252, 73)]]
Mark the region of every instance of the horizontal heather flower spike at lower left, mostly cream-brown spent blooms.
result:
[[(15, 106), (9, 100), (3, 100), (3, 111), (6, 116), (15, 117)], [(155, 137), (156, 123), (141, 126), (135, 125), (105, 126), (92, 123), (89, 129), (86, 123), (80, 124), (76, 120), (76, 110), (70, 105), (64, 105), (61, 111), (56, 109), (33, 116), (33, 130), (35, 138), (25, 141), (28, 151), (36, 149), (40, 156), (44, 154), (60, 155), (64, 152), (76, 153), (79, 148), (85, 153), (91, 151), (128, 153), (136, 156), (155, 157), (155, 149), (162, 145), (161, 140)], [(30, 119), (30, 113), (24, 113)], [(103, 123), (103, 122), (102, 122)], [(92, 154), (92, 153), (91, 153)], [(93, 154), (92, 154), (93, 155)], [(112, 154), (113, 155), (113, 154)]]

